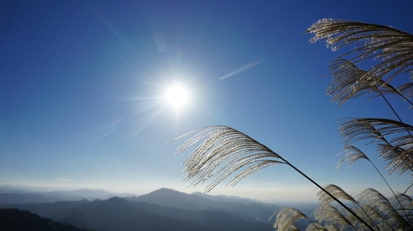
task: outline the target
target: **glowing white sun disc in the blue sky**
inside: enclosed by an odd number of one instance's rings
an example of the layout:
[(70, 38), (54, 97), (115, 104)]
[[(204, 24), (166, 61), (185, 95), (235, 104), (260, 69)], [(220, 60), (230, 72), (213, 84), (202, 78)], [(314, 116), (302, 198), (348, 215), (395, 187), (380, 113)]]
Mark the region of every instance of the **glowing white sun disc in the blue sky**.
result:
[(180, 110), (187, 107), (191, 100), (189, 89), (180, 84), (174, 83), (165, 90), (165, 101), (174, 109)]

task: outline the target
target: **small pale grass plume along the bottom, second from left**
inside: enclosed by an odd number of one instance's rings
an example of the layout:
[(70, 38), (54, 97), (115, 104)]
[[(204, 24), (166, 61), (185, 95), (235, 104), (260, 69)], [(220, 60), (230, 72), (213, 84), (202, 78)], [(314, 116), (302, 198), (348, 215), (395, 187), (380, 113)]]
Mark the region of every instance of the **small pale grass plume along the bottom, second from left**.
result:
[(329, 203), (321, 203), (321, 205), (313, 212), (313, 216), (319, 223), (333, 225), (339, 230), (353, 228), (352, 223), (344, 217), (344, 215), (334, 206)]

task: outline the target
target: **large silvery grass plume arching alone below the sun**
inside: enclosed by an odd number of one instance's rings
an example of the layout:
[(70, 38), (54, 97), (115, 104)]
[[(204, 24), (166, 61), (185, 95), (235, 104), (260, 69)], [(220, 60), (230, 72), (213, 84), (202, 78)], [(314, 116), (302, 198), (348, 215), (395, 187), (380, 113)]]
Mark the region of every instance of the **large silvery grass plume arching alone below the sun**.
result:
[(184, 170), (187, 171), (185, 180), (195, 179), (190, 186), (204, 183), (210, 177), (216, 176), (205, 188), (205, 192), (211, 191), (237, 170), (240, 170), (240, 173), (237, 173), (227, 185), (234, 186), (266, 166), (286, 164), (271, 149), (228, 126), (207, 126), (198, 129), (197, 134), (178, 148), (178, 153), (202, 140), (202, 144), (185, 159)]

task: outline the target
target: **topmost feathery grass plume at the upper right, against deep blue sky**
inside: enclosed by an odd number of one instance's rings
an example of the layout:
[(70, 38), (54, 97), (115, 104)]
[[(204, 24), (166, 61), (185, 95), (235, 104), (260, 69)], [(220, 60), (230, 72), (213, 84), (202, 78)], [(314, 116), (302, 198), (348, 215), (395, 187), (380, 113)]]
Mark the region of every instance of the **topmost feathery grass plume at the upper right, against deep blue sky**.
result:
[[(368, 72), (374, 79), (390, 83), (402, 72), (410, 72), (413, 61), (413, 35), (384, 25), (343, 21), (337, 19), (321, 19), (308, 28), (313, 33), (312, 43), (325, 40), (328, 47), (338, 50), (346, 45), (362, 42), (359, 47), (344, 54), (354, 54), (352, 63), (360, 63), (367, 59), (377, 60)], [(343, 57), (341, 56), (341, 57)], [(340, 58), (341, 58), (340, 57)], [(366, 78), (370, 78), (371, 76)], [(363, 86), (362, 78), (355, 88)]]

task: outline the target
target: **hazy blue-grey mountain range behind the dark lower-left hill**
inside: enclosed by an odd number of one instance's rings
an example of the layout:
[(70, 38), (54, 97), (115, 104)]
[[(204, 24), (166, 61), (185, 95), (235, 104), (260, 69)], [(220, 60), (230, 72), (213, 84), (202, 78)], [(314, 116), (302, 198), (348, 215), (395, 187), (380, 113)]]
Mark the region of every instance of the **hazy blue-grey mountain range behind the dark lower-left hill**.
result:
[(140, 197), (23, 203), (8, 207), (98, 231), (272, 230), (267, 220), (279, 207), (249, 199), (220, 196), (213, 199), (161, 188)]

